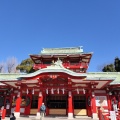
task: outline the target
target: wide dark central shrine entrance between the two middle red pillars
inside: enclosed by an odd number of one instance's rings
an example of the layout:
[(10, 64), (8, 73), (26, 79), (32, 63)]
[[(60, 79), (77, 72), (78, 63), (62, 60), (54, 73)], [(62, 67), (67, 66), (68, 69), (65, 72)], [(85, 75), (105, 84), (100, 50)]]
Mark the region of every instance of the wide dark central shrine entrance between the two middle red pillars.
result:
[(49, 109), (49, 115), (66, 115), (67, 100), (67, 96), (48, 95), (46, 98), (46, 105)]

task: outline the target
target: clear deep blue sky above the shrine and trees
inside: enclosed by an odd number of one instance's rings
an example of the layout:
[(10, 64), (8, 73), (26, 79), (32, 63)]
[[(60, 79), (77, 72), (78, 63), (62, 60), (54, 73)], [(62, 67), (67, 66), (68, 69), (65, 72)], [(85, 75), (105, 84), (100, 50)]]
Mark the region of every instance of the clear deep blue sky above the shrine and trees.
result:
[(83, 46), (89, 72), (120, 57), (120, 0), (0, 0), (0, 62)]

